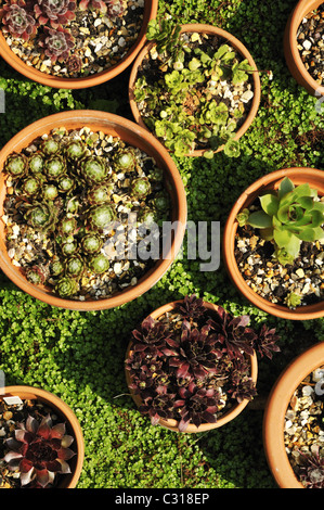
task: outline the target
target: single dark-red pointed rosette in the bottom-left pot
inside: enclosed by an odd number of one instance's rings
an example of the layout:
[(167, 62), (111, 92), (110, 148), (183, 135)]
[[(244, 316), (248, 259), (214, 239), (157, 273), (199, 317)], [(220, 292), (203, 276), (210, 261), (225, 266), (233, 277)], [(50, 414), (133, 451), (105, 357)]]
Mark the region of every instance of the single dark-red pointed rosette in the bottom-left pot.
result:
[(9, 470), (18, 470), (22, 487), (53, 486), (56, 474), (70, 473), (67, 461), (75, 455), (69, 449), (74, 437), (66, 435), (64, 423), (53, 425), (50, 415), (40, 422), (28, 416), (18, 426), (14, 437), (5, 441), (9, 451), (3, 460)]

